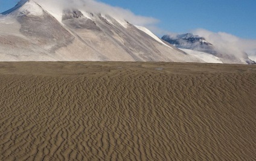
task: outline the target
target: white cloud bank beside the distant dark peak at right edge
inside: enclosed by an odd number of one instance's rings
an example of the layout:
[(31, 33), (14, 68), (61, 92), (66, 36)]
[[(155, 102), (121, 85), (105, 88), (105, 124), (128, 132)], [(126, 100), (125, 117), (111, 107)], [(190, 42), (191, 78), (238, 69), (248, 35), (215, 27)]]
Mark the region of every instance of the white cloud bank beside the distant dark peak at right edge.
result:
[(226, 32), (211, 32), (206, 29), (196, 29), (192, 33), (204, 37), (221, 52), (238, 58), (244, 58), (246, 52), (249, 58), (256, 61), (256, 40), (239, 38)]

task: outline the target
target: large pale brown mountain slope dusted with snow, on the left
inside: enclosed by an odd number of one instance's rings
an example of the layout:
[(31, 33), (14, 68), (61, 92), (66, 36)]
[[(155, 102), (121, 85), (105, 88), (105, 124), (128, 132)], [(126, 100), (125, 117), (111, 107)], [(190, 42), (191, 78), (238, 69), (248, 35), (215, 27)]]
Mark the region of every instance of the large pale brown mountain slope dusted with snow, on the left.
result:
[(0, 61), (204, 62), (126, 20), (36, 0), (0, 15)]

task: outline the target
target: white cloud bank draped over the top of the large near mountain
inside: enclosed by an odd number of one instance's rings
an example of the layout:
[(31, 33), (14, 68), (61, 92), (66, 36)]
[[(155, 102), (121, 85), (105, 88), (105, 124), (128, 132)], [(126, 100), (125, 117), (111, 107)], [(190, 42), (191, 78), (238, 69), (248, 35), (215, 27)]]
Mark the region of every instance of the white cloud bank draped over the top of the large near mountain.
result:
[(113, 7), (103, 2), (95, 0), (34, 0), (43, 8), (47, 8), (53, 13), (59, 14), (67, 8), (75, 8), (91, 13), (107, 14), (119, 20), (127, 20), (134, 25), (150, 26), (159, 22), (153, 17), (138, 16), (130, 10), (120, 7)]

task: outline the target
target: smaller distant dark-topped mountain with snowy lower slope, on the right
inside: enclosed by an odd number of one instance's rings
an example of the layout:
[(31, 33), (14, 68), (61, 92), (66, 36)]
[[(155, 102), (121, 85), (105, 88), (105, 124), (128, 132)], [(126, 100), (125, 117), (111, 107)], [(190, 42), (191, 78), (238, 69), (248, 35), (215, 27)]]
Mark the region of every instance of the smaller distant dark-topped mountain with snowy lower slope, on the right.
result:
[(254, 64), (255, 62), (248, 58), (244, 52), (237, 56), (235, 54), (225, 53), (211, 44), (204, 37), (194, 34), (164, 35), (162, 40), (167, 41), (173, 46), (178, 47), (184, 52), (203, 59), (205, 62), (213, 63), (235, 63), (235, 64)]

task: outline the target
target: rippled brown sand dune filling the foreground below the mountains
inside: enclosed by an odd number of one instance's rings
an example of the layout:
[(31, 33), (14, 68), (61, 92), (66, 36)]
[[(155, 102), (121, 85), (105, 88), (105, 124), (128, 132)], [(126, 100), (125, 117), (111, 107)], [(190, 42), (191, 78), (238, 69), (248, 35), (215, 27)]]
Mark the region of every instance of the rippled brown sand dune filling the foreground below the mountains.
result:
[(256, 65), (1, 62), (0, 160), (255, 160)]

